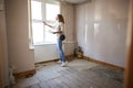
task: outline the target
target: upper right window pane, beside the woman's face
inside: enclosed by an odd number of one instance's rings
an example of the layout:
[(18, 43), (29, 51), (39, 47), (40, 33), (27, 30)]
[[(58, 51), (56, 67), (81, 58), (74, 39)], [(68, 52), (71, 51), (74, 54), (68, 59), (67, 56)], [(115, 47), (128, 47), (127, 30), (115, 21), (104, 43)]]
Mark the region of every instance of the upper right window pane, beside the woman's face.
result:
[(60, 13), (60, 7), (58, 4), (45, 3), (45, 19), (48, 21), (55, 21), (57, 14)]

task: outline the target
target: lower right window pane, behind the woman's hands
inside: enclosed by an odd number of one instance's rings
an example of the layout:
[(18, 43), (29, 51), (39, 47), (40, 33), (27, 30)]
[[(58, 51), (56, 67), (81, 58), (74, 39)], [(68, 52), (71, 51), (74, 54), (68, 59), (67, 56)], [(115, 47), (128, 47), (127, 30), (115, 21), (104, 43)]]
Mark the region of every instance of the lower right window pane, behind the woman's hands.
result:
[(57, 42), (57, 34), (52, 33), (52, 29), (45, 26), (45, 42), (47, 43), (55, 43)]

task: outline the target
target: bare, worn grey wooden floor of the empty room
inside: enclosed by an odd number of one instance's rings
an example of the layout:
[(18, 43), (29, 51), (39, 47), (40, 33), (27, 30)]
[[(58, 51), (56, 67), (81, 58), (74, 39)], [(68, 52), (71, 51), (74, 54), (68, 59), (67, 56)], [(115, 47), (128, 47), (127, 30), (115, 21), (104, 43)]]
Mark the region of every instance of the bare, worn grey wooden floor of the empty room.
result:
[(21, 78), (12, 88), (123, 88), (123, 72), (84, 59), (61, 67), (57, 63), (37, 67), (37, 74)]

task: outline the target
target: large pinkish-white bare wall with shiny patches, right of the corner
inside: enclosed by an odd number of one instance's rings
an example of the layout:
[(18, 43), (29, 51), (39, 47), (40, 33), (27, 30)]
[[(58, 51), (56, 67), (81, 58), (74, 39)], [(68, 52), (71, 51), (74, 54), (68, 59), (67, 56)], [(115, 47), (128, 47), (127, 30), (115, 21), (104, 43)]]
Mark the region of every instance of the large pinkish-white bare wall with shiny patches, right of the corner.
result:
[(124, 67), (129, 0), (92, 0), (76, 6), (78, 44), (84, 55)]

